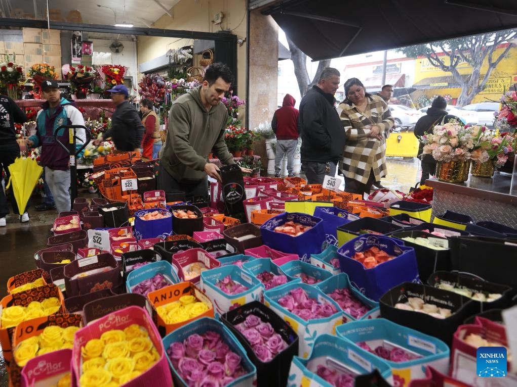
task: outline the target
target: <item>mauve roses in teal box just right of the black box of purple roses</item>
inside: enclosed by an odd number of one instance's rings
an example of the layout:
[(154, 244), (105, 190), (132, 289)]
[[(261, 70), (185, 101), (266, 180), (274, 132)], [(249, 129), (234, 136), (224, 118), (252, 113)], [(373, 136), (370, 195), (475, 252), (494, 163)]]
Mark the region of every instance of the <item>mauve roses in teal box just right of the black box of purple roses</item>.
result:
[(303, 320), (308, 321), (330, 317), (334, 313), (337, 313), (337, 309), (334, 305), (326, 301), (320, 302), (314, 298), (310, 298), (301, 287), (292, 289), (289, 293), (287, 296), (279, 298), (278, 303), (281, 307)]

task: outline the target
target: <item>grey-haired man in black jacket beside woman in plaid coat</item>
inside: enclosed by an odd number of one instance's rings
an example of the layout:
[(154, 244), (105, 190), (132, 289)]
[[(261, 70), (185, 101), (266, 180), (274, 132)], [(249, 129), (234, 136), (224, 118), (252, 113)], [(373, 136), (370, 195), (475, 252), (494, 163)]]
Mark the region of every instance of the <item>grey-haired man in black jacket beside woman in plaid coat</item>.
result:
[(339, 78), (338, 70), (327, 67), (300, 102), (301, 163), (308, 184), (322, 184), (325, 175), (334, 176), (343, 156), (345, 131), (334, 106)]

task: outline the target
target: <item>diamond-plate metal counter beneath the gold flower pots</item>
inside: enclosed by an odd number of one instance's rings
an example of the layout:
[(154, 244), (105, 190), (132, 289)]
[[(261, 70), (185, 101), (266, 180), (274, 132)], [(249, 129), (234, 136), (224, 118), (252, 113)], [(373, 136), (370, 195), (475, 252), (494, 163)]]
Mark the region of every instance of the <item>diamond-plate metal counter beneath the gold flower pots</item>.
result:
[(470, 215), (476, 222), (492, 220), (517, 228), (517, 195), (510, 193), (511, 176), (494, 173), (493, 178), (469, 175), (465, 183), (447, 183), (429, 179), (434, 188), (433, 212), (442, 215), (447, 209)]

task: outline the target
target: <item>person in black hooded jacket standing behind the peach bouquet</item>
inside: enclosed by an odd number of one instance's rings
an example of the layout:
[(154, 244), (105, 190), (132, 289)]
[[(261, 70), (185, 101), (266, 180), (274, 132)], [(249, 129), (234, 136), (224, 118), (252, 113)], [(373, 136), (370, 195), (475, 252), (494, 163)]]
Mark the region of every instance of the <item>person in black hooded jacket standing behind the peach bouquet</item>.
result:
[[(438, 95), (431, 107), (427, 109), (427, 115), (420, 117), (415, 125), (414, 134), (417, 138), (423, 136), (425, 133), (432, 133), (435, 125), (443, 125), (449, 122), (449, 120), (461, 120), (451, 114), (447, 114), (447, 101), (443, 96)], [(429, 175), (436, 173), (436, 160), (430, 154), (422, 155), (423, 143), (419, 143), (418, 155), (422, 160), (422, 177), (420, 178), (420, 185), (425, 184), (425, 181), (429, 179)]]

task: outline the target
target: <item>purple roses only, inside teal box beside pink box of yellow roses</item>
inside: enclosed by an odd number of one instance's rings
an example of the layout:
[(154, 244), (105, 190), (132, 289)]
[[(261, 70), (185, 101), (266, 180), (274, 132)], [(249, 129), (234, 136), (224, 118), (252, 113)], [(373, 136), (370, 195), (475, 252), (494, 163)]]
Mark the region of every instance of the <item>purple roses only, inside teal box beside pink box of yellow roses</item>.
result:
[(190, 386), (225, 386), (245, 375), (241, 357), (230, 350), (217, 332), (191, 334), (166, 350), (179, 376)]

